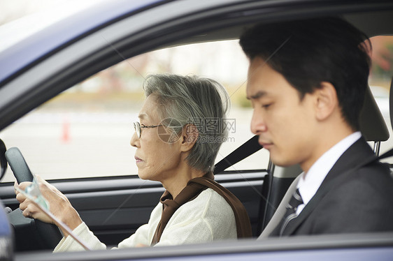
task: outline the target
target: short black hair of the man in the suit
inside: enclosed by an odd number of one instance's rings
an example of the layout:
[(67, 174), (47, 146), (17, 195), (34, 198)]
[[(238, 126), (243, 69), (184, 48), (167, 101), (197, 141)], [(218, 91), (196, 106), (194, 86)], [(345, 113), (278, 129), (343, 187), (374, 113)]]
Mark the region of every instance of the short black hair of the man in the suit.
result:
[(359, 130), (359, 113), (368, 87), (369, 38), (337, 17), (257, 24), (240, 45), (250, 60), (262, 58), (299, 91), (302, 99), (330, 82), (345, 121)]

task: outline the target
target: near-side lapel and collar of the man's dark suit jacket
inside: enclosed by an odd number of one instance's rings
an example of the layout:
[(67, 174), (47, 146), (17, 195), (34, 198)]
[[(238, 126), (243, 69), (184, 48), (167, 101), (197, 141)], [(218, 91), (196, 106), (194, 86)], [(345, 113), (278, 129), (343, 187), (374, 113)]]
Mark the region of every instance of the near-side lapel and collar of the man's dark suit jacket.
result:
[(311, 214), (313, 209), (317, 206), (317, 203), (322, 200), (324, 195), (327, 194), (327, 190), (325, 189), (331, 182), (333, 182), (336, 178), (340, 177), (341, 174), (347, 172), (348, 170), (352, 170), (367, 159), (373, 157), (373, 151), (369, 144), (367, 144), (366, 140), (361, 137), (357, 142), (352, 144), (344, 153), (338, 158), (338, 161), (333, 165), (331, 170), (328, 172), (324, 181), (320, 188), (318, 188), (317, 192), (313, 196), (313, 198), (306, 204), (306, 207), (301, 211), (299, 216), (295, 218), (292, 222), (287, 225), (285, 228), (284, 236), (293, 234), (294, 231), (299, 228), (299, 225), (303, 223), (306, 218)]

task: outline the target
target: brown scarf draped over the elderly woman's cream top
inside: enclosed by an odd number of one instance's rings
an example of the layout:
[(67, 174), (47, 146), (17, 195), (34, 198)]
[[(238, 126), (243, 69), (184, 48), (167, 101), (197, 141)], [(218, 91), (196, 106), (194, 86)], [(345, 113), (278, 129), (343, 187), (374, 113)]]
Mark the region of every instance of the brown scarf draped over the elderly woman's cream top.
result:
[(163, 207), (161, 221), (159, 221), (157, 225), (157, 230), (155, 231), (151, 246), (154, 246), (159, 242), (162, 232), (164, 231), (166, 224), (169, 222), (169, 219), (173, 213), (175, 213), (175, 211), (181, 205), (194, 200), (194, 198), (197, 197), (206, 188), (212, 188), (214, 191), (224, 197), (224, 199), (227, 200), (228, 204), (231, 206), (236, 218), (236, 231), (238, 238), (252, 236), (250, 218), (248, 218), (247, 211), (245, 211), (243, 204), (240, 202), (240, 200), (238, 200), (237, 197), (235, 197), (235, 195), (228, 191), (227, 188), (217, 184), (217, 182), (214, 181), (213, 173), (208, 172), (203, 177), (198, 177), (188, 181), (187, 186), (183, 188), (183, 191), (180, 191), (179, 195), (174, 200), (168, 191), (164, 192), (160, 198), (160, 202), (162, 202)]

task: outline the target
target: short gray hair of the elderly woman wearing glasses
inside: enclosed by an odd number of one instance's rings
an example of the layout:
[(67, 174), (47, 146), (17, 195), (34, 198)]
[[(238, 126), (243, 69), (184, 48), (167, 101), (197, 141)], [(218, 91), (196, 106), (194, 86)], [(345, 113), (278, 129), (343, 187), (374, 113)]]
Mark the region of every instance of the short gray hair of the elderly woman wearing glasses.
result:
[(186, 158), (187, 164), (203, 172), (213, 171), (228, 133), (224, 121), (229, 96), (224, 87), (204, 77), (159, 74), (148, 76), (143, 89), (146, 97), (157, 96), (161, 124), (173, 133), (181, 133), (187, 124), (197, 127), (199, 137)]

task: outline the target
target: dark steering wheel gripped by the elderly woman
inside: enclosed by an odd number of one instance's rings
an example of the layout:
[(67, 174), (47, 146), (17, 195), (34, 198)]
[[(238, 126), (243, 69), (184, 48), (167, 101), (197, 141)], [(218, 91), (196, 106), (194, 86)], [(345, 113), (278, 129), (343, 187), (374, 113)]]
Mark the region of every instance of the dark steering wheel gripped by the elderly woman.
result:
[[(33, 181), (33, 174), (31, 174), (29, 166), (24, 161), (19, 149), (16, 147), (8, 149), (6, 159), (18, 183)], [(31, 249), (32, 245), (34, 245), (35, 250), (37, 248), (54, 249), (63, 237), (56, 225), (26, 218), (19, 208), (8, 214), (8, 218), (10, 224), (15, 228), (17, 250), (34, 250)], [(27, 234), (29, 234), (28, 237)], [(35, 242), (31, 240), (35, 240)], [(25, 244), (29, 244), (29, 246), (25, 246)]]

